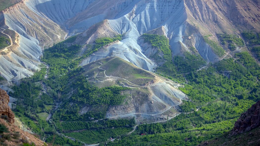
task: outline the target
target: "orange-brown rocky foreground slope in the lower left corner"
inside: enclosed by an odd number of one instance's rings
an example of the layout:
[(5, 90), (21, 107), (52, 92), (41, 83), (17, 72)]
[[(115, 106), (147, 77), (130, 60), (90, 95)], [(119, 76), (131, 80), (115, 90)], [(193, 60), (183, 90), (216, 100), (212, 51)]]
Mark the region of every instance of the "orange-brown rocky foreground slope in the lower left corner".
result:
[[(0, 125), (1, 128), (8, 128), (6, 132), (0, 133), (0, 145), (17, 146), (22, 145), (23, 143), (34, 143), (36, 146), (44, 145), (43, 141), (14, 125), (15, 116), (8, 106), (8, 102), (9, 96), (4, 90), (0, 89)], [(5, 137), (9, 138), (5, 139)]]

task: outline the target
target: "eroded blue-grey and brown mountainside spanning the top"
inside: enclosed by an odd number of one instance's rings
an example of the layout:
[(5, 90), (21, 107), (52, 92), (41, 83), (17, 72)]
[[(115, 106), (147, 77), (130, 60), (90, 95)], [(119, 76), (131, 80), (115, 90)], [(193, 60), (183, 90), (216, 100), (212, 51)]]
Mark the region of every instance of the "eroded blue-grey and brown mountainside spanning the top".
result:
[[(16, 32), (10, 49), (2, 50), (1, 75), (6, 79), (31, 76), (39, 69), (41, 48), (59, 42), (67, 35), (79, 35), (81, 43), (96, 37), (124, 34), (120, 43), (98, 54), (119, 56), (146, 70), (153, 70), (156, 62), (147, 58), (138, 43), (140, 35), (161, 28), (170, 40), (173, 55), (195, 47), (207, 61), (223, 55), (223, 50), (207, 45), (203, 36), (234, 33), (250, 29), (259, 31), (258, 1), (21, 1), (1, 14), (2, 28)], [(102, 7), (100, 7), (102, 5)], [(249, 9), (250, 12), (249, 13)], [(102, 11), (95, 11), (102, 9)], [(198, 14), (198, 15), (197, 15)], [(207, 15), (210, 14), (210, 15)], [(234, 14), (234, 15), (233, 15)], [(255, 15), (254, 15), (255, 14)], [(232, 15), (232, 17), (230, 17)], [(151, 19), (151, 16), (152, 19)], [(108, 20), (107, 20), (108, 19)], [(105, 21), (104, 21), (105, 20)], [(95, 24), (102, 22), (102, 24)], [(99, 29), (97, 26), (100, 25)], [(238, 27), (239, 25), (239, 27)], [(96, 30), (97, 29), (97, 30)], [(86, 32), (84, 32), (86, 31)], [(191, 38), (189, 39), (190, 36)], [(83, 38), (82, 38), (83, 37)], [(93, 38), (94, 37), (94, 38)], [(87, 41), (89, 40), (89, 41)], [(14, 49), (11, 49), (13, 48)], [(37, 49), (36, 49), (37, 48)], [(182, 50), (182, 51), (181, 51)], [(214, 52), (215, 50), (215, 52)], [(113, 52), (113, 54), (112, 54)], [(94, 57), (94, 58), (93, 58)], [(91, 60), (100, 59), (96, 56)], [(10, 65), (5, 65), (10, 63)]]

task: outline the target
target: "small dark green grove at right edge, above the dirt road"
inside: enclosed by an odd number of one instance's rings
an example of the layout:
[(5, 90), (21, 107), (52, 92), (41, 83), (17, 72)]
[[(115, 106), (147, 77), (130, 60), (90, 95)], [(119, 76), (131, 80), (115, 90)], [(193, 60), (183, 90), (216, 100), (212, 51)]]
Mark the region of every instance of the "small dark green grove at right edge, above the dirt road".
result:
[(242, 36), (249, 46), (260, 45), (260, 34), (254, 32), (243, 32)]

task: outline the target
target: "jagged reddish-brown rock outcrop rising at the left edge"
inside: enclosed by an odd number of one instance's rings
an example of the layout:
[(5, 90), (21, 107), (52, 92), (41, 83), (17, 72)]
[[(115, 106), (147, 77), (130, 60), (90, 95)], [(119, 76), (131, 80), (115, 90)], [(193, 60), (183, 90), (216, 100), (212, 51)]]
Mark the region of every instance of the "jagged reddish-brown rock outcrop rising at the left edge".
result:
[(9, 101), (10, 99), (6, 91), (0, 89), (0, 116), (1, 118), (6, 118), (9, 123), (13, 124), (15, 122), (15, 115), (8, 106)]

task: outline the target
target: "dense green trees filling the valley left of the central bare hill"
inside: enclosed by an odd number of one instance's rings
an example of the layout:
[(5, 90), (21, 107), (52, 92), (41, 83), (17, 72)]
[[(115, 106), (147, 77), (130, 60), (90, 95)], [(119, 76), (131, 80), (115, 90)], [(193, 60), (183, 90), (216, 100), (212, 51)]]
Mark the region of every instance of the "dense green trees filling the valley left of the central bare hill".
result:
[[(120, 39), (119, 38), (113, 38)], [(107, 39), (105, 39), (107, 40)], [(93, 50), (86, 51), (82, 56), (79, 56), (82, 46), (80, 45), (68, 45), (67, 41), (63, 41), (54, 44), (53, 47), (45, 48), (42, 61), (48, 63), (48, 78), (45, 79), (47, 68), (42, 68), (40, 71), (30, 78), (22, 79), (18, 86), (12, 87), (13, 92), (10, 92), (10, 96), (17, 98), (17, 104), (13, 109), (15, 115), (27, 125), (32, 131), (40, 135), (40, 138), (46, 137), (46, 135), (52, 135), (47, 138), (53, 140), (53, 143), (59, 143), (59, 140), (65, 140), (63, 144), (79, 145), (77, 142), (72, 142), (66, 138), (53, 135), (55, 133), (54, 124), (60, 119), (84, 119), (89, 120), (88, 117), (103, 118), (108, 105), (119, 104), (124, 96), (120, 95), (121, 87), (107, 87), (97, 88), (88, 83), (86, 77), (81, 76), (84, 69), (79, 67), (81, 60), (88, 55), (97, 51), (100, 47), (99, 44), (108, 44), (102, 42), (102, 38), (98, 39), (95, 48)], [(47, 93), (43, 93), (43, 87), (46, 86)], [(90, 91), (92, 94), (90, 94)], [(84, 93), (83, 93), (84, 91)], [(73, 98), (67, 98), (68, 93), (73, 94)], [(84, 94), (84, 95), (83, 95)], [(77, 96), (81, 96), (77, 98)], [(91, 96), (86, 96), (91, 95)], [(105, 97), (103, 99), (103, 97)], [(83, 98), (87, 98), (88, 102)], [(119, 99), (120, 98), (120, 99)], [(51, 111), (55, 102), (62, 102), (59, 109), (55, 112)], [(73, 106), (69, 103), (74, 102)], [(78, 111), (84, 104), (94, 104), (89, 113), (80, 116)], [(67, 108), (67, 105), (69, 108)], [(74, 114), (73, 112), (77, 112)], [(48, 112), (53, 112), (54, 122), (47, 122), (46, 117)], [(57, 140), (56, 140), (56, 139)], [(48, 141), (46, 140), (46, 141)]]

